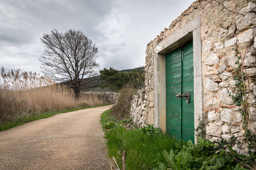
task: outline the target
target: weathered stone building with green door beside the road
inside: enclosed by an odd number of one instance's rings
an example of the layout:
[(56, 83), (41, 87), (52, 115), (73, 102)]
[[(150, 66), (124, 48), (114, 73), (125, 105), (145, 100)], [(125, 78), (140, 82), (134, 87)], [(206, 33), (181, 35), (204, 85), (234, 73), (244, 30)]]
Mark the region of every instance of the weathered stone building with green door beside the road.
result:
[(203, 122), (207, 139), (242, 140), (243, 116), (232, 99), (239, 67), (247, 75), (248, 124), (255, 134), (255, 6), (246, 0), (195, 1), (164, 28), (147, 45), (146, 88), (134, 96), (134, 122), (195, 142), (193, 129)]

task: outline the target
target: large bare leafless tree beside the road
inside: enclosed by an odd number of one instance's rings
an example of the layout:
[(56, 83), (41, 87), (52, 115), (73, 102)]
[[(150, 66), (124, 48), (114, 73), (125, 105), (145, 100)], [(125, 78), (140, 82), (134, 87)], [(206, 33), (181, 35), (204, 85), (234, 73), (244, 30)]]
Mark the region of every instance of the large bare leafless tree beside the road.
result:
[(50, 78), (71, 84), (77, 99), (83, 78), (96, 74), (98, 49), (81, 31), (69, 29), (65, 33), (56, 29), (41, 39), (45, 48), (39, 61), (41, 71)]

